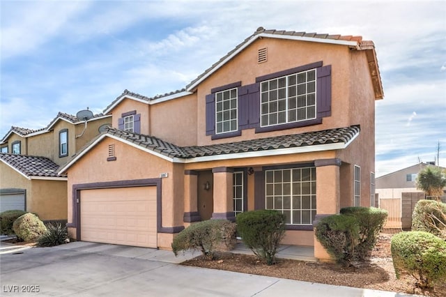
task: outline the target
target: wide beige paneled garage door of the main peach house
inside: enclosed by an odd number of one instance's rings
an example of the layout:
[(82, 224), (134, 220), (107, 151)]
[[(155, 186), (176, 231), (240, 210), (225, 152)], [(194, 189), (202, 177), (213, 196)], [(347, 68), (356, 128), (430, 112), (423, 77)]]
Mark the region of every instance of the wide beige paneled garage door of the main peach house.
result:
[(81, 241), (157, 248), (156, 187), (81, 192)]

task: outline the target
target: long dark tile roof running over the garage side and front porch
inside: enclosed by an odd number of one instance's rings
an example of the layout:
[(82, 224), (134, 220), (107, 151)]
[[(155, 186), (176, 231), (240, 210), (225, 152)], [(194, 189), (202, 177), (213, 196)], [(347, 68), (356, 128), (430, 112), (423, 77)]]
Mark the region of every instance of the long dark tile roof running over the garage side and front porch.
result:
[(244, 140), (208, 146), (176, 146), (164, 142), (157, 137), (140, 135), (116, 128), (108, 128), (107, 133), (121, 139), (148, 148), (169, 158), (196, 158), (207, 155), (225, 155), (229, 153), (245, 153), (249, 151), (267, 151), (279, 148), (295, 148), (298, 146), (315, 146), (317, 144), (336, 144), (349, 142), (360, 132), (359, 126), (335, 128), (316, 132), (305, 132), (293, 135), (282, 135), (261, 139)]

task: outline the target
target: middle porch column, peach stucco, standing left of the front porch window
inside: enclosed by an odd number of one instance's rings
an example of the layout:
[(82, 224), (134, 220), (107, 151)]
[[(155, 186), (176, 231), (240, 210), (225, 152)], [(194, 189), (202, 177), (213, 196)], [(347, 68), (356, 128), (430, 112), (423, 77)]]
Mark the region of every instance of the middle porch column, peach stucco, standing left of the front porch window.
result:
[(233, 169), (216, 167), (212, 169), (214, 178), (214, 212), (212, 219), (224, 219), (234, 222), (236, 217), (233, 210)]

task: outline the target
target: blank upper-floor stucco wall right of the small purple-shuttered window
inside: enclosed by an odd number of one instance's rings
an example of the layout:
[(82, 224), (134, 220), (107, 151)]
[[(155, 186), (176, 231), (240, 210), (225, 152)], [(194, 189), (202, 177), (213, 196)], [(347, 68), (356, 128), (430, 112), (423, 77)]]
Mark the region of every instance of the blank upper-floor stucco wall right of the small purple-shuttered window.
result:
[(178, 146), (197, 144), (197, 95), (151, 105), (151, 135)]

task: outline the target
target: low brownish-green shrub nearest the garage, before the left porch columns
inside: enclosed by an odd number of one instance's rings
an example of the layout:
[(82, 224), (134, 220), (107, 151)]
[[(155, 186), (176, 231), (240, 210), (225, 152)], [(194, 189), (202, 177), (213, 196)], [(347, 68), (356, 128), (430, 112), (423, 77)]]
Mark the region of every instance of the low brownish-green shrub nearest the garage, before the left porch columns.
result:
[(172, 242), (172, 250), (199, 250), (208, 259), (214, 258), (214, 252), (224, 245), (228, 248), (234, 243), (236, 224), (228, 220), (206, 220), (196, 222), (180, 231)]

